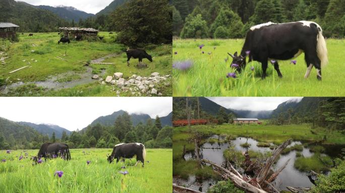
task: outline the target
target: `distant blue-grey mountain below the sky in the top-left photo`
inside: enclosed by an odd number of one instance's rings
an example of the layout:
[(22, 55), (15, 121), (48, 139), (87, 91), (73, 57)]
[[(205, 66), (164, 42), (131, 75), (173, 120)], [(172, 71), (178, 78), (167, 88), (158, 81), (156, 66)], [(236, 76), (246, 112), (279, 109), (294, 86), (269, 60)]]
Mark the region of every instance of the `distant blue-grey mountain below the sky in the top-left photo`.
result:
[(88, 14), (86, 12), (77, 10), (74, 7), (66, 7), (66, 6), (59, 6), (59, 7), (51, 7), (51, 6), (36, 6), (37, 8), (48, 10), (60, 18), (72, 22), (79, 22), (79, 19), (85, 20), (88, 17), (94, 16), (94, 14)]

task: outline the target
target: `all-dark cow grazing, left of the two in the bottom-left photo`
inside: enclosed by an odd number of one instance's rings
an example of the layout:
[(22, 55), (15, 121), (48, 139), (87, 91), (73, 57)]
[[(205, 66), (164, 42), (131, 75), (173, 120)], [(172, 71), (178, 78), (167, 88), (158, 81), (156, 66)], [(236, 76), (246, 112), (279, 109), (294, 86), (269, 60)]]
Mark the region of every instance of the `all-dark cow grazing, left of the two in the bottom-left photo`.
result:
[(63, 159), (70, 160), (71, 153), (70, 148), (65, 143), (43, 143), (41, 148), (38, 151), (37, 156), (33, 157), (33, 160), (36, 162), (38, 158), (44, 157), (44, 160), (62, 157)]

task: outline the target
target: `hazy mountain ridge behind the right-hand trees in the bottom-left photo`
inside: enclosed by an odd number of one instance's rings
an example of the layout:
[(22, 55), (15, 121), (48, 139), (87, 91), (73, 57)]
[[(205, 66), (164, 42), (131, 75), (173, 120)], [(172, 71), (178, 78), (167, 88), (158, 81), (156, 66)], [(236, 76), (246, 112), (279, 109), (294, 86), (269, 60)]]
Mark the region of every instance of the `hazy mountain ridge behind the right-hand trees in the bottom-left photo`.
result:
[[(124, 113), (125, 113), (125, 111), (120, 110), (120, 111), (112, 113), (111, 115), (98, 117), (90, 125), (94, 126), (97, 123), (99, 123), (99, 124), (104, 125), (104, 126), (112, 126), (112, 125), (114, 125), (116, 119)], [(151, 117), (147, 114), (130, 114), (130, 116), (132, 119), (133, 126), (137, 126), (140, 122), (146, 123), (147, 119), (151, 119)], [(171, 124), (171, 116), (172, 116), (172, 112), (165, 117), (160, 117), (162, 127), (164, 127), (166, 125), (168, 125), (168, 126), (172, 125)], [(154, 119), (152, 119), (152, 121), (154, 121)]]

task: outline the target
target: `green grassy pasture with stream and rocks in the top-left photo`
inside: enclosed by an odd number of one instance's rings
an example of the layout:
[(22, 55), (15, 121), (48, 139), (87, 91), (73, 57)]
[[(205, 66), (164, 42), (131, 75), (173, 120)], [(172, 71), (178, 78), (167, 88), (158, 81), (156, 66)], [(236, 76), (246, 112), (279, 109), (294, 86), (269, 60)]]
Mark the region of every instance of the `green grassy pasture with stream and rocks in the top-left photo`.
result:
[[(138, 59), (132, 58), (131, 65), (127, 66), (127, 56), (124, 52), (128, 46), (115, 43), (116, 33), (100, 32), (102, 41), (75, 41), (70, 44), (57, 44), (60, 35), (56, 33), (29, 33), (19, 34), (20, 41), (15, 43), (0, 42), (3, 55), (8, 57), (5, 63), (0, 63), (0, 86), (17, 83), (18, 86), (10, 87), (6, 96), (116, 96), (118, 88), (113, 85), (102, 85), (97, 80), (92, 80), (93, 74), (105, 79), (114, 72), (124, 73), (128, 80), (133, 74), (149, 76), (153, 72), (160, 75), (171, 74), (171, 45), (147, 45), (144, 49), (152, 55), (153, 62), (146, 59), (146, 68), (137, 67)], [(5, 55), (7, 54), (7, 55)], [(65, 60), (57, 58), (61, 57)], [(101, 63), (113, 64), (90, 64), (86, 62), (105, 57)], [(82, 63), (84, 62), (84, 63)], [(14, 73), (9, 73), (18, 68), (29, 66)], [(36, 82), (47, 84), (66, 83), (68, 86), (46, 88)], [(74, 83), (78, 82), (79, 83)], [(156, 89), (163, 96), (172, 95), (171, 78), (166, 82), (160, 82)], [(146, 93), (143, 93), (145, 96)], [(121, 92), (120, 96), (131, 96), (130, 92)]]

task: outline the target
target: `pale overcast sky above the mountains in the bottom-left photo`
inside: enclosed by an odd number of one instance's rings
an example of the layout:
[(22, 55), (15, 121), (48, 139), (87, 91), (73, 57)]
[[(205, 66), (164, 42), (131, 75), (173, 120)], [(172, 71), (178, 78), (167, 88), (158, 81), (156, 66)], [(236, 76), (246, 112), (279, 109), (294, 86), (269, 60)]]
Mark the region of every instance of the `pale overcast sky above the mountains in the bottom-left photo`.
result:
[(172, 111), (172, 98), (0, 98), (0, 117), (16, 122), (54, 124), (70, 131), (83, 129), (98, 117), (119, 110), (144, 113), (151, 118), (164, 117)]

